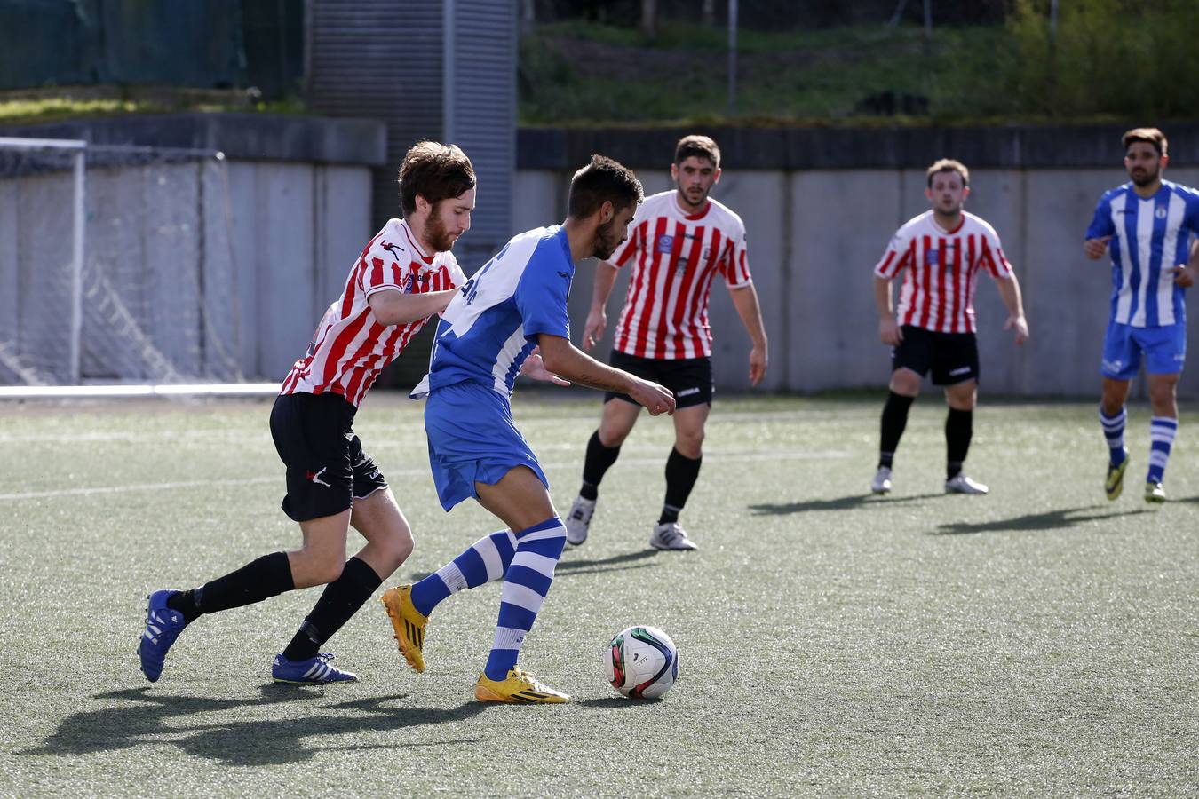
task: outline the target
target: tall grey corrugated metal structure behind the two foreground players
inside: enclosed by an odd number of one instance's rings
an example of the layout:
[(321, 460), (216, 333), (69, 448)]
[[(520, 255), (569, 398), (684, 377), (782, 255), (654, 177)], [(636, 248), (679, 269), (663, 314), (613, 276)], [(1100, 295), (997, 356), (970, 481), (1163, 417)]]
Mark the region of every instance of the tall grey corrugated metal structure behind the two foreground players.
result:
[[(364, 116), (387, 126), (387, 165), (374, 170), (372, 184), (376, 228), (399, 216), (396, 171), (412, 144), (452, 141), (470, 156), (478, 202), (470, 232), (454, 248), (468, 274), (513, 232), (516, 19), (516, 0), (309, 5), (309, 104), (330, 116)], [(415, 383), (426, 363), (420, 350), (428, 346), (429, 333), (410, 343), (384, 385)]]

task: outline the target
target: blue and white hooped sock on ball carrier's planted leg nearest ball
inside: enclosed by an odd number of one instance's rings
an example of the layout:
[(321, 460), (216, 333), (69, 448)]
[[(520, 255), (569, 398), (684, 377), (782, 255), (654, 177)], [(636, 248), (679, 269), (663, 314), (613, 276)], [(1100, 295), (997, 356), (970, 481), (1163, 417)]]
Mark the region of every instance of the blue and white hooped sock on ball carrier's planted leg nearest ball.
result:
[(517, 665), (520, 644), (537, 621), (565, 545), (566, 527), (558, 516), (517, 533), (517, 551), (500, 592), (495, 640), (483, 670), (488, 679), (506, 679), (508, 670)]

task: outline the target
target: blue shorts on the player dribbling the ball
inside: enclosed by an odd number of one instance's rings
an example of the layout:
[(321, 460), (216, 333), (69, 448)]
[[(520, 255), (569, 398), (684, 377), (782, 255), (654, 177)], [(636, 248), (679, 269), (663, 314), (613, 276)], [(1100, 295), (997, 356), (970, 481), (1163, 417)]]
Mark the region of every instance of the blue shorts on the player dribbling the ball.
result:
[(475, 483), (494, 485), (516, 466), (528, 466), (549, 489), (529, 442), (512, 423), (508, 398), (482, 383), (454, 383), (429, 393), (424, 405), (429, 467), (441, 507), (469, 497)]

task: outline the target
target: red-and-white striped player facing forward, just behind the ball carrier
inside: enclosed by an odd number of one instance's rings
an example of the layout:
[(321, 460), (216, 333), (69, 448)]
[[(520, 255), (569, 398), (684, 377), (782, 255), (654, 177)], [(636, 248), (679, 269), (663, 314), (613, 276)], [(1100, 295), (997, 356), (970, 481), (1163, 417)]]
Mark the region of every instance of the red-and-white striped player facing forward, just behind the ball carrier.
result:
[[(591, 311), (583, 349), (603, 338), (604, 304), (616, 272), (629, 267), (628, 293), (616, 322), (610, 363), (674, 392), (675, 443), (667, 458), (665, 500), (650, 545), (659, 550), (693, 550), (679, 525), (679, 514), (699, 477), (704, 425), (712, 407), (712, 335), (707, 303), (712, 283), (723, 278), (753, 349), (749, 382), (766, 374), (766, 331), (758, 293), (749, 277), (746, 229), (741, 217), (709, 196), (721, 180), (721, 150), (705, 135), (683, 137), (670, 165), (674, 189), (645, 200), (633, 219), (628, 241), (596, 271)], [(628, 395), (604, 394), (600, 428), (588, 441), (583, 486), (566, 517), (566, 540), (588, 539), (600, 480), (616, 462), (640, 407)]]

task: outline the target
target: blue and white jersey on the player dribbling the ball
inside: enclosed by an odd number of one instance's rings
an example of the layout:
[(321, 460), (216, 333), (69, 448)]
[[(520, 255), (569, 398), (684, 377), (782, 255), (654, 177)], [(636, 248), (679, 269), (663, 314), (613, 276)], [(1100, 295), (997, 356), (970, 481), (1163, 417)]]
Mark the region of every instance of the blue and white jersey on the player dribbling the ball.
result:
[(513, 237), (450, 301), (433, 341), (429, 374), (411, 397), (465, 381), (512, 397), (537, 334), (571, 338), (566, 297), (573, 278), (571, 244), (560, 225)]

